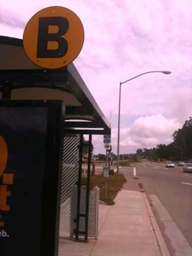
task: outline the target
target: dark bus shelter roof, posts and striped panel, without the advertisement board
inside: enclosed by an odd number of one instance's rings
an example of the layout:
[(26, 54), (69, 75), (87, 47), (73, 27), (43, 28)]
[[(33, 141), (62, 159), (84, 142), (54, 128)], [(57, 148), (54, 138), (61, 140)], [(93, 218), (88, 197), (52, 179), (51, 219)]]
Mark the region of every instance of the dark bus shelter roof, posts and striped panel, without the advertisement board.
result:
[[(65, 205), (63, 210), (65, 216), (60, 216), (60, 229), (63, 228), (66, 232), (70, 228), (70, 200), (68, 199), (70, 199), (71, 187), (77, 185), (75, 238), (76, 241), (88, 241), (92, 135), (111, 134), (108, 120), (73, 63), (54, 70), (40, 68), (26, 56), (21, 39), (1, 36), (0, 40), (1, 102), (64, 102), (65, 118), (61, 124), (60, 138), (63, 150), (59, 192), (60, 204)], [(8, 104), (14, 106), (13, 103)], [(81, 214), (81, 173), (85, 134), (88, 134), (86, 212)], [(49, 209), (49, 211), (54, 210)], [(83, 231), (79, 230), (80, 218), (85, 220)]]

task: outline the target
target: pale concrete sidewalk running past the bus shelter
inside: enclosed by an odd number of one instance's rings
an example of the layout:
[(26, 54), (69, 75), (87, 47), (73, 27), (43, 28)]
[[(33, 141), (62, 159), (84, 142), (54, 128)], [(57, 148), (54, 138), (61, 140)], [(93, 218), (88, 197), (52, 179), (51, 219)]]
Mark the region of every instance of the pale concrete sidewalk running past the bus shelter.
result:
[[(131, 185), (132, 190), (127, 190)], [(60, 240), (60, 256), (169, 256), (163, 236), (148, 204), (129, 177), (115, 205), (99, 205), (99, 237), (88, 243)], [(134, 189), (135, 188), (135, 189)]]

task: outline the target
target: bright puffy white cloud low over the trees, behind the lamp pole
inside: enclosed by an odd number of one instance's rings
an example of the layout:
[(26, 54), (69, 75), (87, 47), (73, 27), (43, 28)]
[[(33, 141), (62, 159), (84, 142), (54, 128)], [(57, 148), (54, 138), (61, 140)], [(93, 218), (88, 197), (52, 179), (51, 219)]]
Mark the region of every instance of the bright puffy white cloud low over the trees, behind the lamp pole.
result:
[[(167, 118), (164, 115), (140, 116), (134, 120), (131, 127), (120, 129), (120, 154), (134, 153), (138, 148), (152, 148), (157, 144), (168, 144), (172, 142), (172, 134), (182, 127), (176, 118)], [(96, 142), (97, 141), (97, 142)], [(103, 152), (102, 138), (93, 140), (95, 144), (94, 154)], [(117, 129), (111, 131), (112, 150), (116, 154)]]

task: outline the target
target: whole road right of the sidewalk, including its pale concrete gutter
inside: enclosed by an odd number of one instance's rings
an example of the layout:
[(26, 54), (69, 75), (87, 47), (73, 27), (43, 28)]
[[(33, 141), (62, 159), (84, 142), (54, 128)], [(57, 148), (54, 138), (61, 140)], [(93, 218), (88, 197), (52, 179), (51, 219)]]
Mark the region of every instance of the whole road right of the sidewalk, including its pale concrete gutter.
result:
[[(182, 166), (165, 168), (164, 163), (143, 161), (132, 163), (140, 179), (170, 255), (192, 255), (192, 173), (182, 172)], [(102, 164), (95, 173), (102, 172)], [(113, 166), (113, 169), (115, 167)], [(126, 179), (133, 176), (133, 168), (120, 168)], [(137, 190), (127, 182), (124, 189)]]

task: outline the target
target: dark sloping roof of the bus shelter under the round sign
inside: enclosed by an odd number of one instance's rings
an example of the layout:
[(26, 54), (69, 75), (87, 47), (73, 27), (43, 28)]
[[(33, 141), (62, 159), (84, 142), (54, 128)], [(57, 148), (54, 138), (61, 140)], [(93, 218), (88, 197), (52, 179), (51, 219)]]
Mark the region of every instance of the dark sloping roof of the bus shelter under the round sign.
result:
[(63, 100), (70, 133), (111, 134), (110, 125), (73, 63), (60, 69), (36, 66), (22, 40), (0, 36), (0, 92), (8, 86), (13, 100)]

